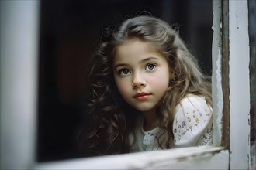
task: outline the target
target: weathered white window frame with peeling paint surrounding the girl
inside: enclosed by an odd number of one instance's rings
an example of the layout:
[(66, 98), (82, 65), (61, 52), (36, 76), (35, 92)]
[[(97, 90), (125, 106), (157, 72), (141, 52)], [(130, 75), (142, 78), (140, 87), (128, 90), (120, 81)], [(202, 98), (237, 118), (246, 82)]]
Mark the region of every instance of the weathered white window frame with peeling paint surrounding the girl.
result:
[(215, 146), (45, 163), (36, 162), (39, 9), (1, 1), (1, 168), (250, 168), (247, 1), (213, 1)]

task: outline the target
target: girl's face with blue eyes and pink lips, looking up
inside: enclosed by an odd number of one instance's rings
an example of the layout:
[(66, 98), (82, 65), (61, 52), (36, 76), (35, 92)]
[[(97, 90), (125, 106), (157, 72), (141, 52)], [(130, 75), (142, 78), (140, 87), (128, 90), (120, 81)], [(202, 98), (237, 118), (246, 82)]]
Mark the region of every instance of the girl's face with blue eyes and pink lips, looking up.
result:
[(168, 89), (167, 60), (149, 42), (133, 39), (118, 46), (113, 71), (123, 99), (142, 112), (154, 111)]

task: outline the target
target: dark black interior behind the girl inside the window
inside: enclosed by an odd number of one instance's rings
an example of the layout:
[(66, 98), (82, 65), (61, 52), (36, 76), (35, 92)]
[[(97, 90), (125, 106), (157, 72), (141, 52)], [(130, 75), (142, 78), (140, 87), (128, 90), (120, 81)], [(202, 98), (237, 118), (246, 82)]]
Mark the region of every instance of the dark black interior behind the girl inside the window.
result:
[(206, 0), (43, 0), (40, 6), (40, 70), (37, 161), (78, 158), (75, 134), (84, 110), (85, 63), (102, 28), (147, 11), (170, 25), (212, 70), (213, 10)]

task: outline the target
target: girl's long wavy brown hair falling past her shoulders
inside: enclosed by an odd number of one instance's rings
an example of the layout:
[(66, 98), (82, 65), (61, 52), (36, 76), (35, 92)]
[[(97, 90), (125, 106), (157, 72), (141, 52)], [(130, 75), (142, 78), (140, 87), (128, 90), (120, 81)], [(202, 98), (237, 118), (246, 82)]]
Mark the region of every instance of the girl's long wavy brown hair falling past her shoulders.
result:
[(159, 127), (168, 138), (161, 148), (170, 148), (175, 107), (186, 95), (205, 97), (212, 106), (210, 79), (202, 73), (178, 31), (153, 16), (140, 15), (126, 19), (113, 31), (104, 29), (88, 64), (88, 124), (80, 134), (81, 147), (87, 155), (130, 151), (128, 136), (135, 128), (135, 120), (140, 112), (126, 104), (112, 75), (115, 49), (130, 39), (153, 43), (158, 53), (168, 60), (173, 74), (156, 111)]

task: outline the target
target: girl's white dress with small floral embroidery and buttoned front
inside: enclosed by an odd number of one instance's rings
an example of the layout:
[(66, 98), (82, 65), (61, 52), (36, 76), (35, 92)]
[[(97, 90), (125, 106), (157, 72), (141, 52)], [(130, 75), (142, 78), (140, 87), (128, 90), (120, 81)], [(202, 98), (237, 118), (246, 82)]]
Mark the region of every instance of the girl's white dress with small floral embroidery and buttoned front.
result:
[[(150, 131), (143, 129), (143, 117), (138, 117), (134, 134), (130, 134), (131, 151), (154, 151), (167, 140), (160, 128)], [(213, 109), (206, 104), (204, 97), (188, 95), (176, 107), (173, 122), (174, 141), (171, 148), (213, 144)], [(161, 135), (163, 134), (163, 135)], [(164, 145), (162, 145), (164, 147)]]

